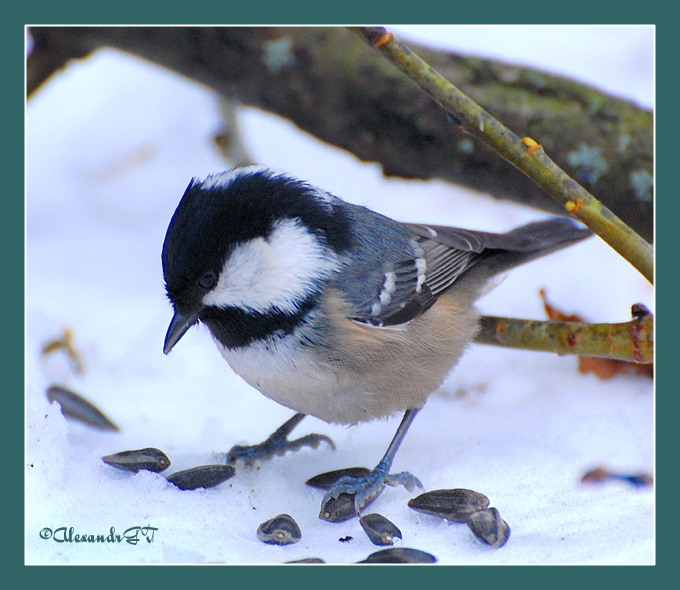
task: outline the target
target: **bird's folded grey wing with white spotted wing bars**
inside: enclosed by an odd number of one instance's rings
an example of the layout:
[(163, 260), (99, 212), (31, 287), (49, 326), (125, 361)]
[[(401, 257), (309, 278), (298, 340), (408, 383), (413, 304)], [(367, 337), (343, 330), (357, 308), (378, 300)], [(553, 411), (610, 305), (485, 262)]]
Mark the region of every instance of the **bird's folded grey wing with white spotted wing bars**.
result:
[(410, 322), (427, 311), (484, 250), (484, 240), (475, 232), (404, 225), (413, 233), (414, 256), (354, 277), (364, 286), (364, 297), (355, 301), (354, 321), (380, 327)]

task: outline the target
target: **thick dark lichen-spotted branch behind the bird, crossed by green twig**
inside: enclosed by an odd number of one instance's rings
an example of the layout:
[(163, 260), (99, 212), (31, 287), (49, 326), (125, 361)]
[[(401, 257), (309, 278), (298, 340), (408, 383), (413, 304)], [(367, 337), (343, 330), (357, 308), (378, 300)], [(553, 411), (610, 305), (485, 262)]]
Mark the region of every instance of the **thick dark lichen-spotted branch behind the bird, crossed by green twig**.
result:
[[(33, 27), (28, 92), (69, 59), (114, 47), (282, 115), (387, 175), (441, 178), (564, 213), (389, 62), (337, 27)], [(653, 239), (652, 114), (584, 85), (499, 62), (418, 54)], [(468, 129), (469, 131), (469, 129)]]

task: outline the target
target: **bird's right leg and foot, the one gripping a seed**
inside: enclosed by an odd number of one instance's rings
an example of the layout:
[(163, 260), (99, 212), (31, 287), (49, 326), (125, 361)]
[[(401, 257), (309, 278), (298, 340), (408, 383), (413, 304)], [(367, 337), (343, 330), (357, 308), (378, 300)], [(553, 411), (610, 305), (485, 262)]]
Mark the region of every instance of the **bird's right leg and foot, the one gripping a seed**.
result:
[(380, 463), (375, 466), (375, 469), (363, 477), (341, 477), (333, 486), (326, 492), (321, 503), (320, 518), (328, 520), (327, 504), (328, 502), (337, 499), (340, 494), (348, 494), (354, 497), (354, 509), (356, 514), (361, 512), (361, 509), (375, 500), (383, 491), (383, 488), (388, 486), (404, 486), (407, 490), (413, 491), (415, 488), (422, 488), (417, 477), (404, 471), (402, 473), (390, 473), (394, 456), (401, 445), (406, 432), (408, 431), (413, 419), (416, 417), (420, 408), (406, 410), (404, 417), (397, 428), (397, 432), (387, 448), (385, 456)]

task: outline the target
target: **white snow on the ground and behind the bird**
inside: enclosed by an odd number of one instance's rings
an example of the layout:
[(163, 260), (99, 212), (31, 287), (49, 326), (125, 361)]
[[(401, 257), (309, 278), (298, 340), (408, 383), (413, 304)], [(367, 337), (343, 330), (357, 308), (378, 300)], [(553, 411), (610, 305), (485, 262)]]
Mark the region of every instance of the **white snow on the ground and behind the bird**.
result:
[[(519, 61), (573, 76), (652, 106), (651, 27), (410, 27), (403, 38)], [(307, 418), (300, 435), (337, 445), (269, 461), (209, 490), (182, 492), (162, 475), (130, 475), (103, 455), (155, 446), (167, 473), (212, 463), (233, 444), (259, 442), (291, 412), (233, 375), (204, 328), (162, 352), (171, 309), (160, 251), (168, 221), (193, 176), (229, 167), (212, 141), (214, 95), (113, 51), (72, 64), (27, 106), (26, 154), (26, 562), (29, 564), (282, 563), (305, 557), (354, 563), (378, 548), (357, 520), (318, 519), (321, 493), (304, 485), (331, 469), (372, 467), (398, 417), (353, 428)], [(543, 214), (443, 182), (385, 179), (374, 164), (322, 145), (286, 121), (242, 112), (254, 158), (347, 200), (409, 221), (506, 230)], [(540, 138), (537, 138), (540, 141)], [(484, 313), (543, 318), (541, 287), (568, 312), (627, 321), (653, 309), (646, 281), (598, 239), (510, 273), (480, 301)], [(85, 372), (42, 346), (73, 330)], [(50, 405), (52, 383), (97, 404), (121, 430), (67, 421)], [(402, 530), (398, 546), (443, 564), (652, 564), (655, 496), (624, 483), (583, 485), (604, 465), (653, 472), (651, 380), (579, 374), (576, 359), (472, 346), (429, 400), (397, 455), (426, 490), (483, 492), (509, 523), (494, 550), (465, 525), (406, 506), (388, 488), (371, 506)], [(280, 513), (302, 529), (298, 544), (258, 541)], [(77, 534), (155, 527), (153, 542), (58, 543), (46, 528)], [(352, 537), (340, 542), (341, 538)]]

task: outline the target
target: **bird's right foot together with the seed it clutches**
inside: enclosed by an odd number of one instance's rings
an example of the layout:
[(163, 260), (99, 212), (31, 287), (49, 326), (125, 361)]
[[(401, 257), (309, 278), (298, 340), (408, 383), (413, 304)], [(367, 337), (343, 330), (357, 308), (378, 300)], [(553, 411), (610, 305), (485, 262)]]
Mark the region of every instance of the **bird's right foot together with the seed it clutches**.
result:
[(358, 516), (365, 506), (382, 493), (386, 485), (404, 486), (410, 492), (423, 487), (414, 475), (407, 471), (389, 473), (389, 468), (381, 462), (367, 475), (360, 477), (345, 475), (338, 479), (321, 502), (319, 518), (339, 522)]

